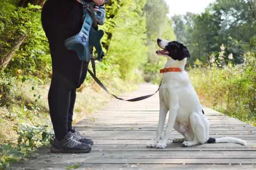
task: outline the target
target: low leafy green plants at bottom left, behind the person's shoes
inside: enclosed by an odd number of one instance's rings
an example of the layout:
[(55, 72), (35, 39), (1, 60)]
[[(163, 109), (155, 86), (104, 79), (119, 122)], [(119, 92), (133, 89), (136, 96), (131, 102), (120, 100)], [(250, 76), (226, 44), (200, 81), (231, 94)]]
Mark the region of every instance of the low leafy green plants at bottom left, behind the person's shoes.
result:
[(20, 124), (16, 130), (19, 135), (16, 139), (17, 143), (9, 141), (6, 143), (0, 142), (0, 167), (2, 168), (8, 167), (20, 159), (28, 160), (38, 156), (33, 151), (42, 145), (52, 144), (53, 132), (46, 125), (31, 126)]

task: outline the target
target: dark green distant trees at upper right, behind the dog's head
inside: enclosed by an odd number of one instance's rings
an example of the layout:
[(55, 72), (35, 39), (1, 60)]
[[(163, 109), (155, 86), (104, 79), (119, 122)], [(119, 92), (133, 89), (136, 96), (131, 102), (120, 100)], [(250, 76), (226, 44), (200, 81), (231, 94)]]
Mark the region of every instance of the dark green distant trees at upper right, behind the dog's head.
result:
[(255, 0), (216, 0), (201, 14), (186, 13), (172, 17), (177, 40), (189, 48), (189, 63), (206, 63), (224, 43), (225, 52), (240, 64), (242, 48), (256, 36)]

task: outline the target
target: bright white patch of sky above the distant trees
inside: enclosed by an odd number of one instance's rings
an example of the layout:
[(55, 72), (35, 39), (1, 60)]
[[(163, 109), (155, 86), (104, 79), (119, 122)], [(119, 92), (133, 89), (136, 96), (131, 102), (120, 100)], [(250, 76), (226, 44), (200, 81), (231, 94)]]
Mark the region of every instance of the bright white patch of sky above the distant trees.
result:
[(214, 0), (165, 0), (169, 6), (170, 14), (186, 14), (186, 12), (201, 13)]

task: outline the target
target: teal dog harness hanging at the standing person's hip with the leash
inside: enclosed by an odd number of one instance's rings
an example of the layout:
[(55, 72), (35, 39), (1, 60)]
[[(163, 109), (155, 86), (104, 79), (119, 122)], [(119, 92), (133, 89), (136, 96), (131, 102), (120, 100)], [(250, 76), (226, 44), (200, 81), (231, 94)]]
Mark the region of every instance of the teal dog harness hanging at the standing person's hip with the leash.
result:
[[(97, 24), (103, 25), (105, 22), (105, 7), (93, 8), (93, 3), (86, 3), (82, 0), (77, 0), (83, 4), (83, 26), (81, 31), (73, 37), (65, 40), (65, 46), (68, 50), (76, 51), (78, 58), (81, 61), (90, 61), (89, 45), (93, 45), (98, 53), (98, 59), (102, 59), (103, 51), (100, 43), (104, 35), (103, 30), (95, 30)], [(91, 15), (94, 15), (94, 21)], [(94, 23), (93, 23), (94, 22)], [(94, 28), (92, 25), (94, 24)]]

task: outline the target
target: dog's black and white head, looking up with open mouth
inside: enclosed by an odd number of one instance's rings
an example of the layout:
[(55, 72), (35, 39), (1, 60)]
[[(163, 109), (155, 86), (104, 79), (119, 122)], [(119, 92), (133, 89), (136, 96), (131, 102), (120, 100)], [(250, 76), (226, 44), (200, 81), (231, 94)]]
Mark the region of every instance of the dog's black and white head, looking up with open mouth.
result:
[(157, 45), (163, 50), (157, 50), (156, 53), (160, 56), (171, 57), (174, 60), (183, 60), (184, 58), (191, 57), (188, 48), (177, 41), (168, 42), (160, 38), (157, 39)]

